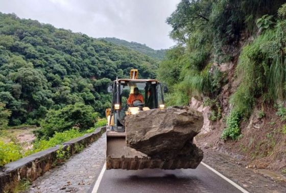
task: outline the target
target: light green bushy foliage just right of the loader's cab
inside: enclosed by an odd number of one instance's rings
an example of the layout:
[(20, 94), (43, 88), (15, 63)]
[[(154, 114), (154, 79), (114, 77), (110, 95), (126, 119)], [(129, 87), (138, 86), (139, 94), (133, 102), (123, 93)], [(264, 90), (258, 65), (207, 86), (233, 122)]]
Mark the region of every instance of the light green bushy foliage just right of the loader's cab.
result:
[(210, 97), (218, 95), (224, 76), (217, 67), (205, 64), (207, 58), (206, 51), (194, 51), (188, 55), (181, 46), (167, 52), (158, 68), (158, 78), (169, 85), (171, 92), (165, 96), (166, 104), (185, 105), (190, 97), (201, 93)]

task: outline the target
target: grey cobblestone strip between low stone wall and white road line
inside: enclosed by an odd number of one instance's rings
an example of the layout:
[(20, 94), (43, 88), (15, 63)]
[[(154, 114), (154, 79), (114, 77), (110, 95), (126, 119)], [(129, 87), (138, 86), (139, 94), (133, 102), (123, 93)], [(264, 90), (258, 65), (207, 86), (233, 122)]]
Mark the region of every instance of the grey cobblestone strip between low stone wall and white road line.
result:
[(62, 166), (46, 172), (27, 192), (88, 192), (105, 160), (106, 134), (73, 155)]

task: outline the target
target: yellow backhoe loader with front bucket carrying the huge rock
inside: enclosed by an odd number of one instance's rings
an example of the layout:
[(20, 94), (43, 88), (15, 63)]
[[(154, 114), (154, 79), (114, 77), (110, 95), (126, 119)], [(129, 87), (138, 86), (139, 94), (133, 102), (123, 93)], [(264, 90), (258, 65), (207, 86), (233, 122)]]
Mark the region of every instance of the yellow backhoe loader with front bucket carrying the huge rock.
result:
[[(154, 108), (164, 108), (163, 93), (168, 92), (165, 85), (156, 79), (137, 79), (138, 71), (131, 70), (130, 79), (116, 79), (108, 87), (108, 92), (113, 93), (112, 106), (106, 109), (107, 117), (107, 150), (106, 169), (138, 170), (145, 168), (180, 169), (189, 168), (189, 163), (182, 160), (153, 159), (144, 153), (136, 151), (126, 145), (126, 132), (124, 119), (140, 111), (148, 111)], [(128, 100), (139, 91), (144, 101)], [(128, 102), (131, 102), (131, 104)]]

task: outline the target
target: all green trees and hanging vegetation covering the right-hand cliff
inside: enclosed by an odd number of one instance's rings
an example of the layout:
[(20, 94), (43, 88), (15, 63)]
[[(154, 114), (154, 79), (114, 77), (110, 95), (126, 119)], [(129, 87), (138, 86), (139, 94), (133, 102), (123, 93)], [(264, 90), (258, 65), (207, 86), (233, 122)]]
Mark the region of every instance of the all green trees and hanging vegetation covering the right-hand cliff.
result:
[(204, 98), (212, 101), (213, 120), (221, 118), (218, 95), (229, 77), (220, 66), (237, 64), (239, 85), (232, 88), (222, 138), (238, 139), (240, 121), (249, 118), (257, 99), (285, 100), (285, 10), (284, 0), (181, 0), (166, 20), (178, 44), (158, 69), (171, 88), (167, 103)]

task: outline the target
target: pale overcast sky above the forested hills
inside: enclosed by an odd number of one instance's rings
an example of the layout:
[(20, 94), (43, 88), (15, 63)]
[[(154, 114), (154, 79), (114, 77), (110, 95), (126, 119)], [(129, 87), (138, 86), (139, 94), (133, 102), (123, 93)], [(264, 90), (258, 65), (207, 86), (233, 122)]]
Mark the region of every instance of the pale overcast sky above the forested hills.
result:
[(0, 0), (0, 12), (94, 38), (115, 37), (153, 49), (175, 45), (165, 20), (180, 0)]

